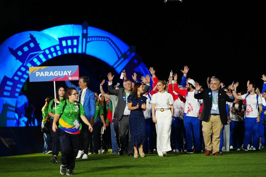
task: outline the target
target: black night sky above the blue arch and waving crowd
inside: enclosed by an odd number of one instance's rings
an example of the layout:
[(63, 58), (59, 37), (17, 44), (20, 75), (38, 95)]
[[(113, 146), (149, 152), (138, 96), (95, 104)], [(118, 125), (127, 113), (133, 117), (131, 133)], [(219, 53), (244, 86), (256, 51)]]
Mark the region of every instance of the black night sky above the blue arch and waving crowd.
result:
[(0, 43), (19, 32), (86, 20), (129, 46), (135, 45), (136, 53), (147, 67), (155, 68), (159, 79), (167, 79), (173, 70), (180, 82), (180, 70), (187, 65), (188, 76), (203, 87), (206, 77), (215, 75), (226, 85), (239, 81), (242, 90), (247, 80), (262, 89), (260, 77), (266, 74), (265, 6), (252, 1), (234, 3), (1, 1)]

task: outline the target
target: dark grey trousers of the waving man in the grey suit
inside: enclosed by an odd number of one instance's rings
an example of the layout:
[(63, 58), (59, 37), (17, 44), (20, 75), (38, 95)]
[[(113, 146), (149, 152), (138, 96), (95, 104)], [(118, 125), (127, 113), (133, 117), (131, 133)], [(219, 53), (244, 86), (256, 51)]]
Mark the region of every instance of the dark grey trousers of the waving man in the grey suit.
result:
[(127, 147), (128, 154), (134, 153), (134, 147), (131, 146), (131, 135), (129, 131), (129, 116), (123, 116), (119, 120), (119, 141), (120, 148), (124, 150)]

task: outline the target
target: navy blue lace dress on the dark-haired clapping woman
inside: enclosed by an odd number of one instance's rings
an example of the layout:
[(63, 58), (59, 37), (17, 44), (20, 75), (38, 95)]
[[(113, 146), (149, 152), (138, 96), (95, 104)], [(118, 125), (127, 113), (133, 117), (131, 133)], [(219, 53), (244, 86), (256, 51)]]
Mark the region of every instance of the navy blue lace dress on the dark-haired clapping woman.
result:
[(146, 104), (147, 98), (141, 96), (140, 98), (135, 98), (133, 95), (129, 95), (127, 102), (132, 102), (132, 107), (137, 106), (139, 103), (139, 109), (131, 110), (129, 116), (129, 129), (131, 134), (131, 145), (136, 146), (138, 144), (144, 144), (146, 138), (146, 124), (144, 114), (141, 108), (143, 103)]

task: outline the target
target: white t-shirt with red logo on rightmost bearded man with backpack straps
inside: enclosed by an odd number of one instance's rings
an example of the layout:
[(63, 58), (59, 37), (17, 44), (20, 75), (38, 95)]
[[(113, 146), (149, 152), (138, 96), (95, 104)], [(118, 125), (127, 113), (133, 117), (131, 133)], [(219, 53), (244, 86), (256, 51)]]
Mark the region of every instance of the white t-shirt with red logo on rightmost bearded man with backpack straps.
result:
[(248, 95), (247, 94), (241, 95), (243, 100), (246, 100), (246, 113), (245, 117), (249, 118), (257, 118), (259, 116), (258, 107), (259, 104), (262, 104), (261, 97), (258, 97), (258, 104), (257, 104), (257, 94)]

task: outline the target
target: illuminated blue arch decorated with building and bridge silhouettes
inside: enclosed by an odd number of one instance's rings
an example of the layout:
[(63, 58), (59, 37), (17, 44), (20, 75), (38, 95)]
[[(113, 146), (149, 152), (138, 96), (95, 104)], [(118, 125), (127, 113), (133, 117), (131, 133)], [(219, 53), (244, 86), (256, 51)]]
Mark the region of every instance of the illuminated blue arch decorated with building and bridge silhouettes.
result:
[(149, 73), (134, 46), (128, 46), (113, 34), (90, 27), (86, 21), (82, 25), (60, 25), (15, 34), (1, 44), (0, 53), (0, 117), (7, 120), (0, 120), (0, 127), (5, 126), (3, 122), (9, 126), (14, 122), (16, 98), (29, 76), (29, 67), (39, 66), (53, 57), (87, 54), (106, 62), (118, 73), (124, 68), (128, 73)]

